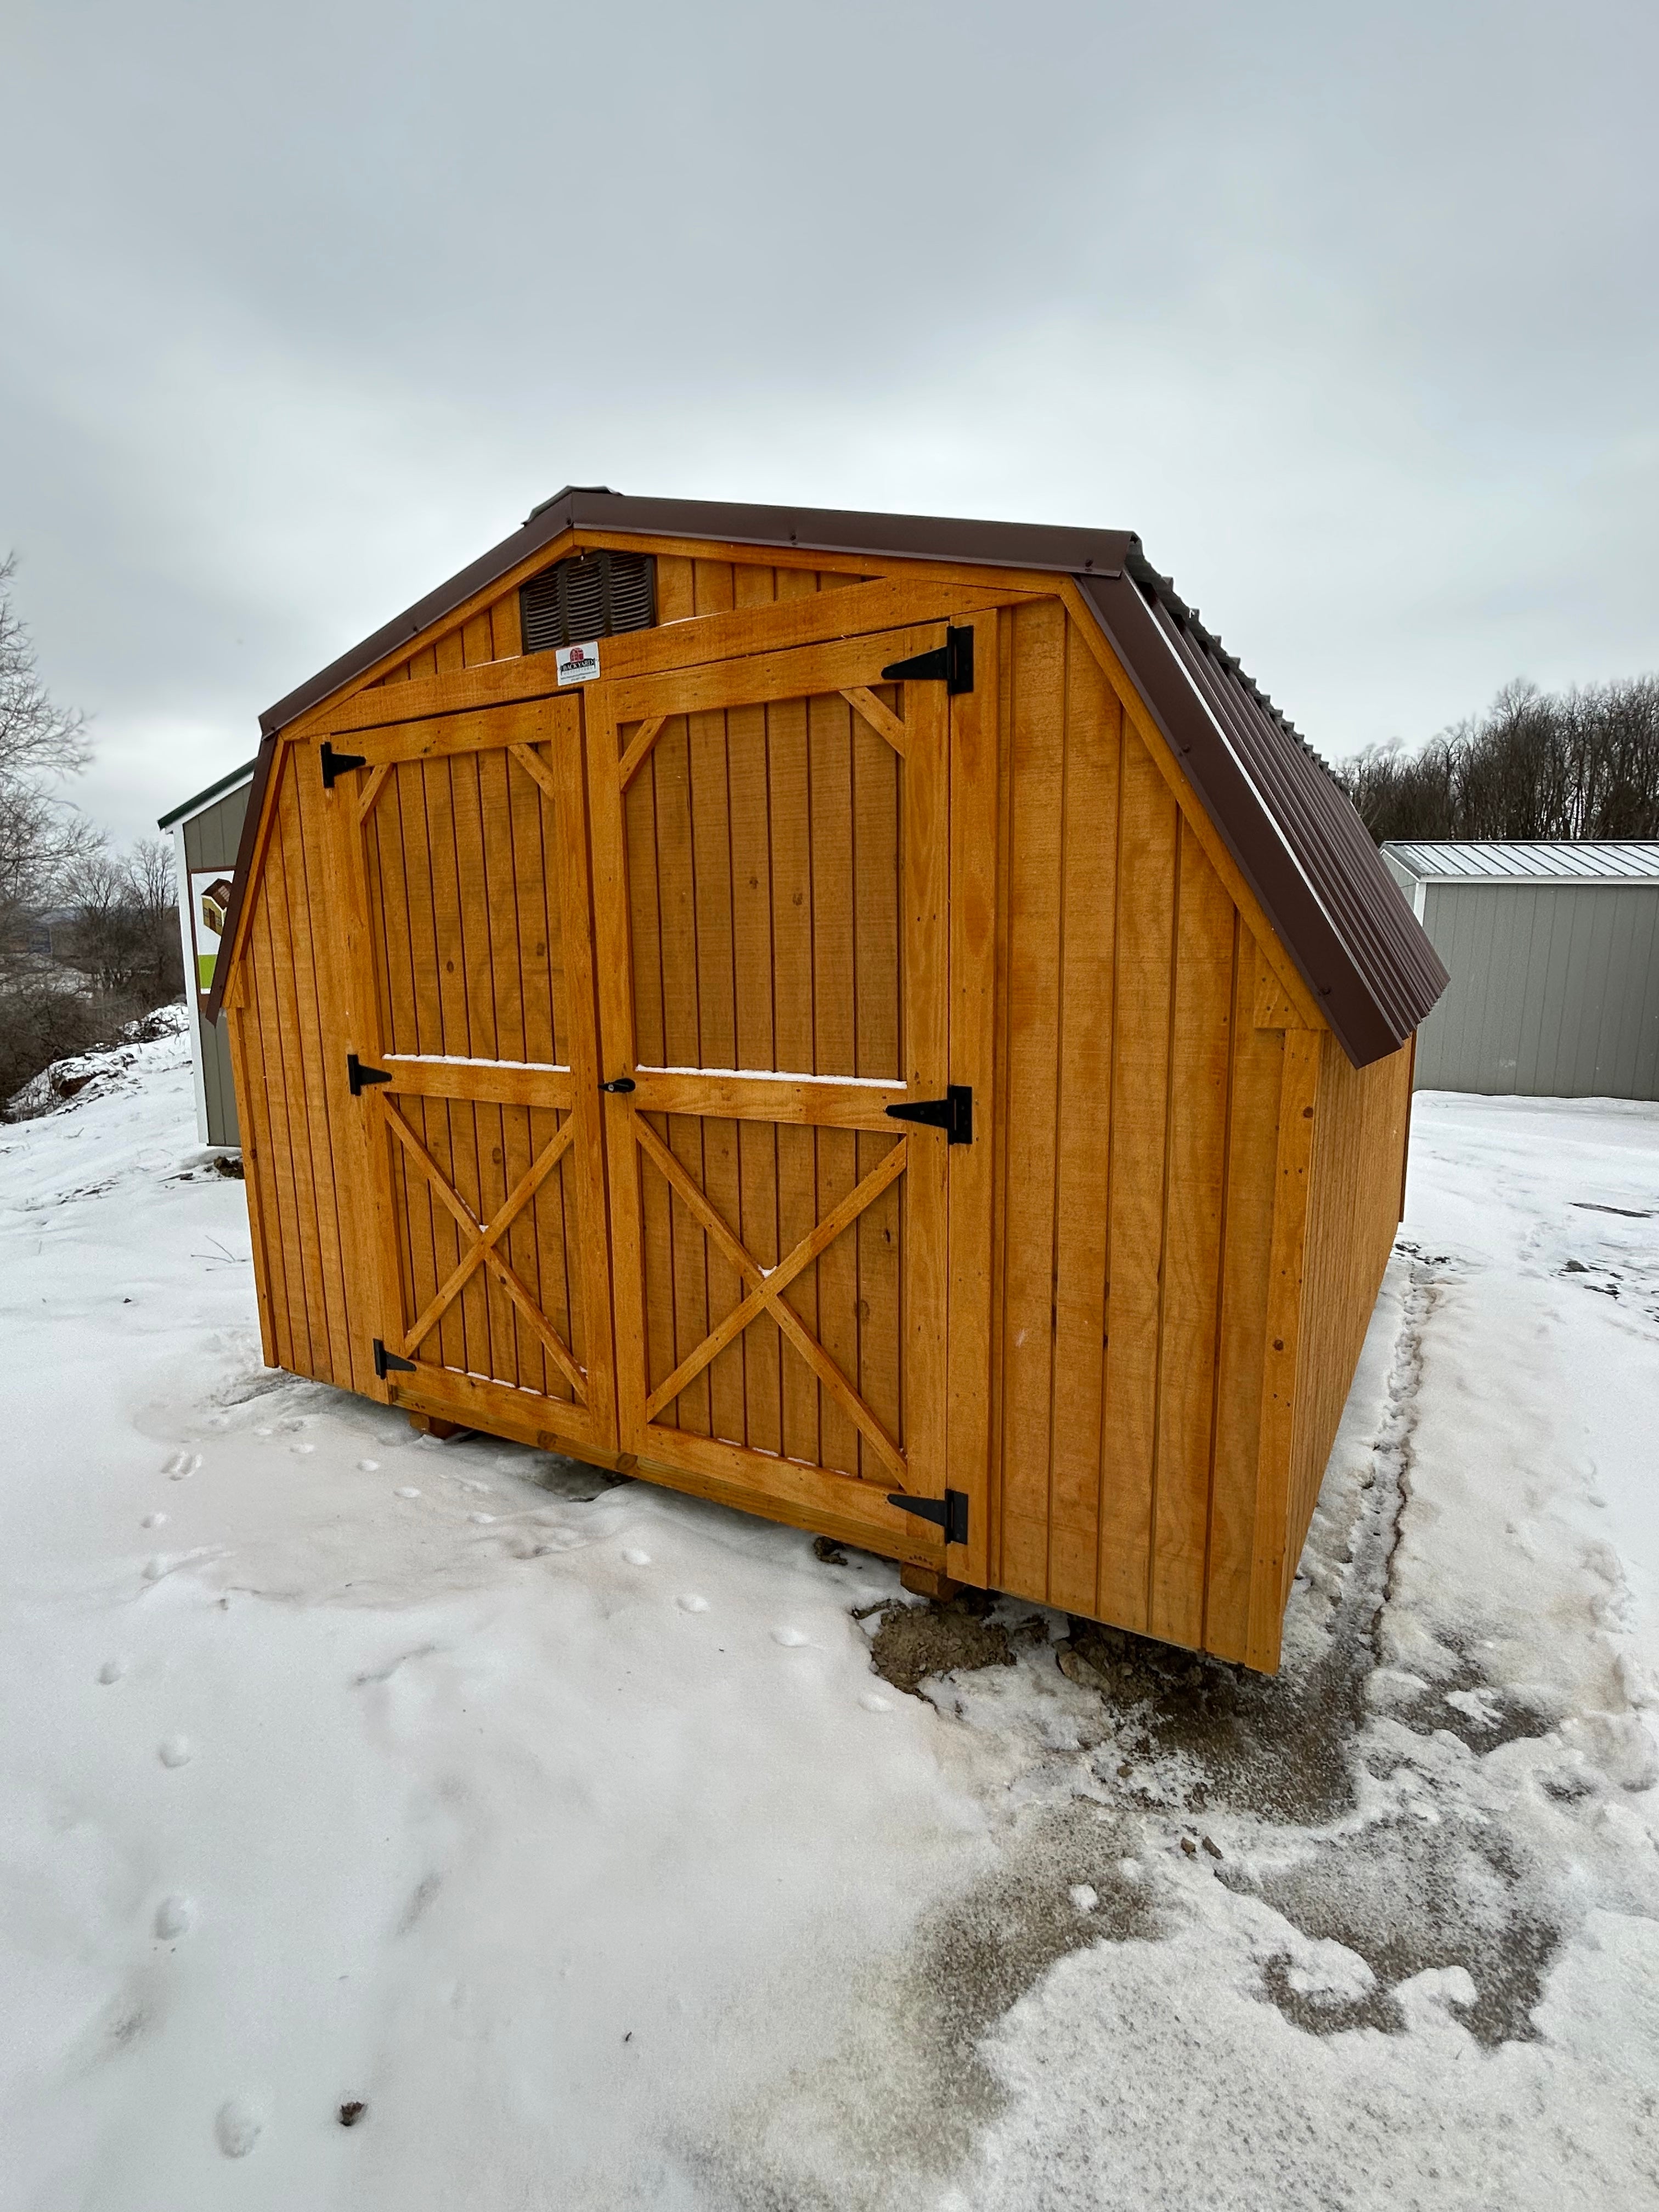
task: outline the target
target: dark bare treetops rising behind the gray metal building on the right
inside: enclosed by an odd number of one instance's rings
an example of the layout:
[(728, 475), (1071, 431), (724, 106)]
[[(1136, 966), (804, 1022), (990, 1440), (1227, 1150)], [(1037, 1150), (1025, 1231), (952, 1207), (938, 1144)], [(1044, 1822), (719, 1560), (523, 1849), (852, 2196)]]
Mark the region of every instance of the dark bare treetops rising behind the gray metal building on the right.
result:
[(1659, 677), (1544, 692), (1506, 684), (1425, 745), (1336, 770), (1371, 836), (1659, 838)]

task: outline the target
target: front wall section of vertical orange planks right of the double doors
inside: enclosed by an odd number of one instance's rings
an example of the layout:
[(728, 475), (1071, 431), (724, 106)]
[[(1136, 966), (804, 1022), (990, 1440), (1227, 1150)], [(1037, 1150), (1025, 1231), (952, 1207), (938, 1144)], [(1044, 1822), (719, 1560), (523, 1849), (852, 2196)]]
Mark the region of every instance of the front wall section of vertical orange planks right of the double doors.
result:
[(991, 1577), (1245, 1657), (1283, 1033), (1064, 608), (1000, 664)]

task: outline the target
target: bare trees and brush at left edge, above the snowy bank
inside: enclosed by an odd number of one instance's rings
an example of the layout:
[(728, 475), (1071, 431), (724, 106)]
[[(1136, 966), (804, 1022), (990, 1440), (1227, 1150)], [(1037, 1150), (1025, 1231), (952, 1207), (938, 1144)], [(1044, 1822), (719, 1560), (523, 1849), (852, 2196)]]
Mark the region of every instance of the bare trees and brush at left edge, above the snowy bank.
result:
[(86, 721), (40, 681), (13, 575), (0, 562), (0, 1113), (55, 1060), (184, 995), (173, 843), (117, 854), (66, 799)]

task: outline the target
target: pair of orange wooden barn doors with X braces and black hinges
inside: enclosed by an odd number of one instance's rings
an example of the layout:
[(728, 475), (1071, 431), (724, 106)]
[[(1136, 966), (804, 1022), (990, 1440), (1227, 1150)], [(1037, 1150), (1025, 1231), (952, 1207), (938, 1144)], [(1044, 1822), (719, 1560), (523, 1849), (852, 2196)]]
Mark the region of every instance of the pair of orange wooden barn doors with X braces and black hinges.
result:
[(995, 617), (975, 692), (883, 679), (945, 637), (352, 701), (389, 1396), (982, 1571)]

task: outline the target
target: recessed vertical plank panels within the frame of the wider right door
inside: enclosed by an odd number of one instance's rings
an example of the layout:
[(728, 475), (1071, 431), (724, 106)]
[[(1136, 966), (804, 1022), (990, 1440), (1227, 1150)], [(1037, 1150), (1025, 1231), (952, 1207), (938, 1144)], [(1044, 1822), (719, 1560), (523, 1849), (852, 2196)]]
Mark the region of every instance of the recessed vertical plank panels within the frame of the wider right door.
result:
[[(712, 588), (726, 588), (723, 571)], [(896, 697), (878, 688), (883, 703)], [(628, 783), (622, 816), (639, 1066), (902, 1082), (900, 768), (841, 695), (672, 717)], [(650, 1126), (763, 1267), (898, 1144), (898, 1133), (692, 1115), (655, 1115)], [(655, 1391), (743, 1285), (650, 1161), (641, 1210)], [(889, 1188), (785, 1298), (902, 1444), (900, 1225)], [(852, 1475), (883, 1473), (770, 1316), (655, 1418)]]

